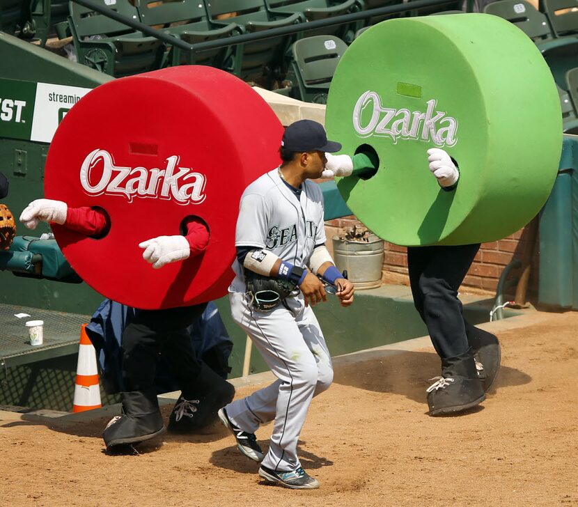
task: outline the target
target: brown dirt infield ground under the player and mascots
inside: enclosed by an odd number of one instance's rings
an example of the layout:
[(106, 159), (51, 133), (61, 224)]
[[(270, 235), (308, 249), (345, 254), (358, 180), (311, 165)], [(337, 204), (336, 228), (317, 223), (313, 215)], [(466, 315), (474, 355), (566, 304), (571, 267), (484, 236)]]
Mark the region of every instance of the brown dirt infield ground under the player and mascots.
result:
[[(313, 401), (301, 435), (299, 455), (320, 490), (260, 483), (258, 465), (238, 454), (219, 426), (192, 438), (165, 435), (139, 448), (140, 455), (113, 456), (100, 438), (106, 419), (63, 426), (4, 412), (1, 502), (578, 506), (578, 312), (516, 320), (512, 329), (504, 329), (506, 320), (490, 325), (502, 343), (501, 372), (483, 405), (462, 416), (425, 415), (427, 379), (439, 374), (431, 347), (337, 359), (334, 385)], [(263, 446), (270, 431), (269, 425), (258, 432)]]

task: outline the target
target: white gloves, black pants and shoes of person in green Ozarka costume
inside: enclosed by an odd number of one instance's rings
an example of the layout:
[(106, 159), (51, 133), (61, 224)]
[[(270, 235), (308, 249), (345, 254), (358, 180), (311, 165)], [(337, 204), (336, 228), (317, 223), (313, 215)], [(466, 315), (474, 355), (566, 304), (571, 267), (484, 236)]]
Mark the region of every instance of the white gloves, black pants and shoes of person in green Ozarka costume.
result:
[[(349, 176), (355, 155), (328, 155), (323, 176)], [(440, 148), (428, 150), (429, 169), (444, 192), (458, 187), (460, 171)], [(432, 344), (442, 359), (442, 375), (426, 390), (432, 416), (461, 412), (485, 399), (496, 378), (501, 353), (493, 334), (471, 325), (462, 315), (458, 289), (480, 244), (408, 247), (407, 267), (414, 305), (428, 327)]]

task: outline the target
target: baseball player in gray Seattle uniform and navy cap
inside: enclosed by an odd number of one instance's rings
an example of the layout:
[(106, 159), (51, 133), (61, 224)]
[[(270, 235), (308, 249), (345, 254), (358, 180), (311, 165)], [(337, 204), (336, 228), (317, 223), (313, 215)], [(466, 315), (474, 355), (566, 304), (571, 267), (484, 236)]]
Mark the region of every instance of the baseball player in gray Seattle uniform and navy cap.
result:
[[(299, 462), (297, 439), (311, 398), (333, 380), (329, 350), (311, 306), (327, 300), (325, 283), (342, 306), (353, 302), (352, 283), (325, 248), (321, 191), (308, 181), (320, 178), (325, 152), (340, 149), (327, 141), (319, 123), (289, 125), (279, 150), (281, 166), (245, 189), (237, 219), (231, 313), (277, 380), (229, 403), (219, 417), (241, 453), (261, 462), (259, 476), (293, 489), (319, 487)], [(269, 451), (263, 455), (255, 432), (272, 420)]]

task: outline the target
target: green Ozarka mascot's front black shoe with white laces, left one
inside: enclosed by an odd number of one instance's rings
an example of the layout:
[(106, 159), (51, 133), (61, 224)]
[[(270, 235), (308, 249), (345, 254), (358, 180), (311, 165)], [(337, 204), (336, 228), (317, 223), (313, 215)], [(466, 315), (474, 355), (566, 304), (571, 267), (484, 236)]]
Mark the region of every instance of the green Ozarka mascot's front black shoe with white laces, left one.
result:
[(462, 412), (485, 400), (482, 381), (478, 377), (474, 350), (442, 359), (442, 376), (426, 390), (430, 416)]

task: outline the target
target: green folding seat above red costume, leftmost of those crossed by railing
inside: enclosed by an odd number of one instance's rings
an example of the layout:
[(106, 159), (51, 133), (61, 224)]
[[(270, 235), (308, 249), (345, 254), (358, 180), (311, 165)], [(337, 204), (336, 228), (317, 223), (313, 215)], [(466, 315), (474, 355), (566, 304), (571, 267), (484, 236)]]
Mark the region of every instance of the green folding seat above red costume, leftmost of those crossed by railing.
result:
[[(117, 13), (139, 19), (139, 12), (127, 0), (95, 0)], [(162, 64), (164, 44), (154, 37), (144, 37), (129, 26), (95, 11), (70, 2), (68, 24), (79, 63), (114, 77), (155, 70)]]

